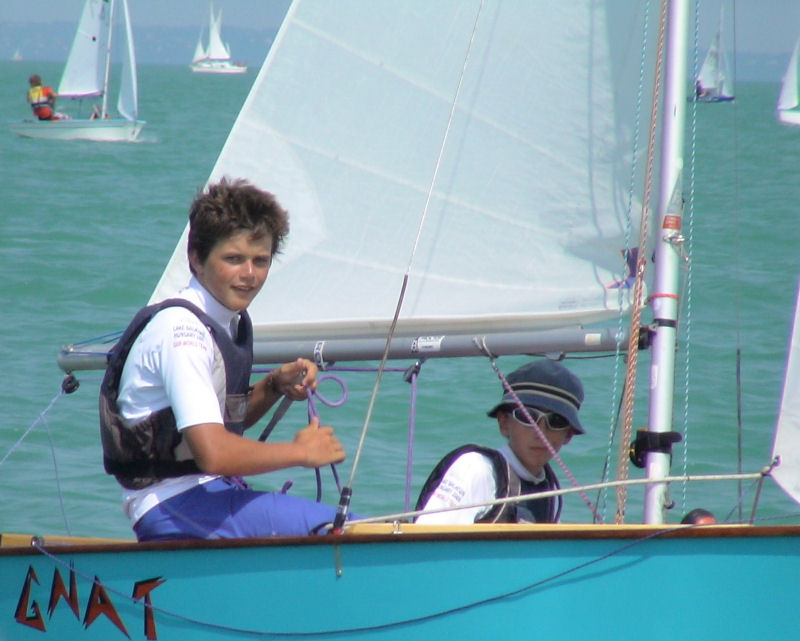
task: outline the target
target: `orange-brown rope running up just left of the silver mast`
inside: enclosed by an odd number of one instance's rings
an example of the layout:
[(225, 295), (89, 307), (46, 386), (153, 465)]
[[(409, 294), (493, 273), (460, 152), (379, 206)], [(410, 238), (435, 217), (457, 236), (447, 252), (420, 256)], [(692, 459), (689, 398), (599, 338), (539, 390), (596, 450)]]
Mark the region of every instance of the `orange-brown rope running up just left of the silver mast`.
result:
[[(645, 172), (644, 197), (642, 199), (642, 218), (639, 230), (639, 253), (636, 257), (636, 274), (634, 280), (633, 310), (631, 313), (631, 330), (628, 338), (628, 369), (625, 376), (623, 423), (622, 434), (619, 440), (619, 454), (617, 464), (617, 478), (622, 480), (628, 477), (628, 444), (633, 431), (633, 401), (636, 393), (636, 372), (639, 360), (639, 324), (642, 315), (642, 288), (644, 286), (644, 271), (647, 263), (647, 235), (650, 211), (650, 195), (653, 184), (653, 165), (655, 157), (655, 137), (658, 119), (658, 102), (661, 87), (661, 73), (664, 54), (664, 29), (666, 27), (667, 2), (661, 3), (661, 15), (658, 22), (658, 47), (656, 50), (656, 69), (653, 78), (653, 99), (650, 112), (650, 136), (647, 145), (647, 165)], [(625, 506), (627, 492), (625, 486), (617, 489), (616, 523), (625, 521)]]

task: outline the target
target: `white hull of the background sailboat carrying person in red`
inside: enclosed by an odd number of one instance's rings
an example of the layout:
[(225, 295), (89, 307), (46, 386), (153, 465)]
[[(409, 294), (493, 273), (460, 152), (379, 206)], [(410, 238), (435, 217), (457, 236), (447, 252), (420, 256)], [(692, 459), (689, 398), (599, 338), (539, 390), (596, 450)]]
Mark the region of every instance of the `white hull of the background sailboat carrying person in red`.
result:
[(48, 140), (93, 140), (133, 142), (139, 138), (143, 120), (21, 120), (9, 124), (23, 138)]

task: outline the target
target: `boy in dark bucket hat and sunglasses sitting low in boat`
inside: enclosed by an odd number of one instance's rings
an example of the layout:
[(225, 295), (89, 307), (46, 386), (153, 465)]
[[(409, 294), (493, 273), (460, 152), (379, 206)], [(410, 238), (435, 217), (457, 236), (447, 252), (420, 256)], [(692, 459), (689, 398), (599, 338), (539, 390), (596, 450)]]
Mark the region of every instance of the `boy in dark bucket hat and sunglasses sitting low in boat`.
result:
[[(574, 434), (585, 433), (578, 418), (583, 385), (561, 363), (549, 359), (523, 365), (506, 380), (524, 407), (506, 391), (488, 415), (497, 419), (507, 442), (499, 449), (465, 445), (447, 454), (425, 482), (417, 510), (480, 504), (558, 489), (549, 460)], [(416, 522), (557, 523), (560, 516), (561, 497), (549, 497), (420, 514)]]

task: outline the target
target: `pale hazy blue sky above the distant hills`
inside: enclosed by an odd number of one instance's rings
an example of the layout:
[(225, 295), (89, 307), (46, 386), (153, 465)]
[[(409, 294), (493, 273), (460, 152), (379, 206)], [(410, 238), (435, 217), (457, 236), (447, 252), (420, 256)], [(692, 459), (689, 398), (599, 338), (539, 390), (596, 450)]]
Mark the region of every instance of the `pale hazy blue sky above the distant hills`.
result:
[[(338, 2), (342, 0), (328, 0)], [(361, 0), (365, 8), (370, 0)], [(397, 0), (402, 1), (402, 0)], [(458, 0), (431, 0), (457, 2)], [(523, 2), (570, 0), (517, 0)], [(626, 2), (629, 0), (619, 0)], [(632, 0), (630, 0), (632, 1)], [(800, 35), (800, 0), (702, 0), (699, 31), (700, 48), (707, 47), (719, 16), (720, 2), (725, 4), (726, 40), (743, 53), (787, 54)], [(207, 0), (129, 0), (131, 20), (135, 25), (194, 26), (198, 29), (208, 16)], [(275, 26), (288, 0), (216, 0), (223, 10), (223, 24), (265, 29)], [(50, 22), (77, 20), (83, 0), (0, 0), (0, 23)], [(694, 12), (694, 2), (691, 2)], [(733, 32), (733, 18), (736, 30)]]

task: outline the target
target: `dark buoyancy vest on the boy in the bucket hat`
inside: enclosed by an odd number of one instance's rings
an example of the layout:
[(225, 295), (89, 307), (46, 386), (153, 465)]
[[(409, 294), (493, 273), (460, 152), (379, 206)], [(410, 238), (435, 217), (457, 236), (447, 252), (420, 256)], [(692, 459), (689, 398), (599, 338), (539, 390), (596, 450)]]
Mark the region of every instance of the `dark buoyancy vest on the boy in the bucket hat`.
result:
[[(526, 481), (519, 477), (506, 458), (495, 449), (480, 445), (462, 445), (446, 454), (436, 467), (433, 468), (420, 490), (415, 510), (422, 510), (431, 494), (439, 487), (448, 468), (459, 456), (467, 452), (477, 452), (492, 462), (495, 477), (495, 498), (505, 499), (533, 492), (544, 492), (560, 488), (558, 478), (550, 464), (544, 466), (545, 478), (540, 483)], [(557, 523), (561, 518), (562, 499), (560, 496), (544, 499), (527, 499), (514, 503), (493, 505), (482, 516), (475, 519), (476, 523)]]

